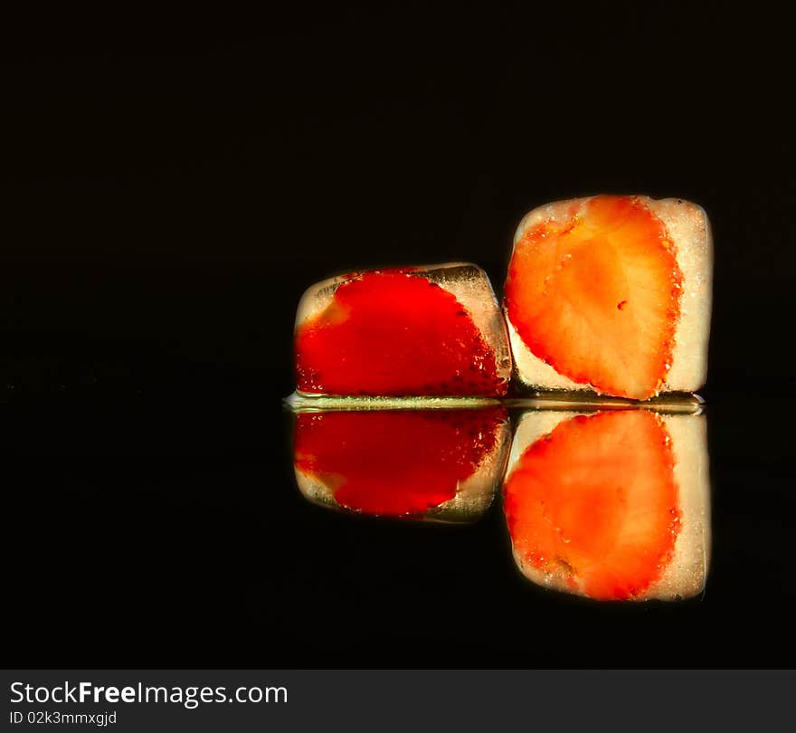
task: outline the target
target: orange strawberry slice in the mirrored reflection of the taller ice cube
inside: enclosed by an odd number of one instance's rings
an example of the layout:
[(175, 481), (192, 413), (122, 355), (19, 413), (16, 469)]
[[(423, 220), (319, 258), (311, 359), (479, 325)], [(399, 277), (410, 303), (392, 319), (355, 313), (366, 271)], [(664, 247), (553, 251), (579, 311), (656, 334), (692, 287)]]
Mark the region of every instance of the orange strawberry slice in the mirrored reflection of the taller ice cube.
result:
[(507, 477), (506, 520), (518, 559), (575, 593), (640, 595), (674, 552), (673, 468), (657, 415), (601, 413), (558, 424)]

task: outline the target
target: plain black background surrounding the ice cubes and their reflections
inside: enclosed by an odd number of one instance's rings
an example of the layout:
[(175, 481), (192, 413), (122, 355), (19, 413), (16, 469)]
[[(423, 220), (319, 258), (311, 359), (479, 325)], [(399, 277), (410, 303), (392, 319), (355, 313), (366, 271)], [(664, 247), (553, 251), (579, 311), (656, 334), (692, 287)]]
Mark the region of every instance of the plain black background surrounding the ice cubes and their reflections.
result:
[[(308, 5), (5, 23), (8, 666), (792, 666), (792, 42), (754, 5)], [(704, 598), (524, 583), (472, 528), (290, 478), (314, 281), (479, 262), (535, 205), (681, 196), (715, 234)]]

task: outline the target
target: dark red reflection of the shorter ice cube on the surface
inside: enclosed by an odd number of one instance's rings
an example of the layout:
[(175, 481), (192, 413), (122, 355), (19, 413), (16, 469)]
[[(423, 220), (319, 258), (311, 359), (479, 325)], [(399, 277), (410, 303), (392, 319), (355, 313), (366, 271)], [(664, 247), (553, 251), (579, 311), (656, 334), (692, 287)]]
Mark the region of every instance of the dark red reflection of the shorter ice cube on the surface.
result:
[(331, 509), (471, 522), (492, 502), (510, 437), (503, 408), (298, 414), (296, 480)]

